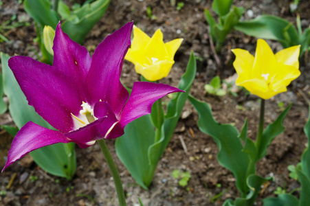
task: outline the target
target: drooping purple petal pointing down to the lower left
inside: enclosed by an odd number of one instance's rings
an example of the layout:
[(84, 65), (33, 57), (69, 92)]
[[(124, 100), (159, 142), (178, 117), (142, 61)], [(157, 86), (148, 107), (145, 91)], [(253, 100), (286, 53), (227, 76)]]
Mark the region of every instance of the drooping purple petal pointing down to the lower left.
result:
[(8, 152), (8, 160), (3, 170), (33, 150), (60, 142), (69, 143), (70, 140), (63, 133), (28, 122), (13, 139), (12, 146)]

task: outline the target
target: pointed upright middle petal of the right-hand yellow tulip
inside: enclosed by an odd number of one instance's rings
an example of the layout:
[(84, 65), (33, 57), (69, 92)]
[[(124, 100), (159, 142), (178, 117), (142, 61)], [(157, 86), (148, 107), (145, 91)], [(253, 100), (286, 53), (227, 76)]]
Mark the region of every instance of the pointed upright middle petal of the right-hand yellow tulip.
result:
[(270, 73), (272, 75), (276, 73), (274, 71), (277, 69), (276, 65), (277, 60), (272, 49), (263, 39), (258, 39), (252, 71), (254, 77), (263, 80), (262, 74)]

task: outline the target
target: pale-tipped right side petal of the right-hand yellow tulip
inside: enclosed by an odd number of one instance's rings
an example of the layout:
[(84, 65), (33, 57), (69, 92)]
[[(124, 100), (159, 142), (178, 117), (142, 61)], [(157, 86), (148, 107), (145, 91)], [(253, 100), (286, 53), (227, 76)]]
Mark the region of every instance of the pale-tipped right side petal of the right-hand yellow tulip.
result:
[(278, 62), (282, 63), (283, 65), (291, 65), (294, 66), (296, 69), (299, 68), (299, 52), (300, 52), (300, 45), (289, 47), (287, 49), (283, 49), (280, 52), (276, 53), (276, 59)]

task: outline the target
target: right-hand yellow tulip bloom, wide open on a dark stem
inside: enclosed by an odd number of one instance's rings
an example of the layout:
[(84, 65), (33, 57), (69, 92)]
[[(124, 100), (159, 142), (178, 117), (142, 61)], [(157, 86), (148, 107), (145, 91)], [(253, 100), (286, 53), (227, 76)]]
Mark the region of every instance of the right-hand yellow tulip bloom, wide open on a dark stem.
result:
[(287, 91), (292, 80), (300, 76), (298, 56), (300, 45), (274, 54), (269, 45), (258, 39), (255, 57), (243, 49), (232, 49), (238, 73), (236, 85), (265, 100)]

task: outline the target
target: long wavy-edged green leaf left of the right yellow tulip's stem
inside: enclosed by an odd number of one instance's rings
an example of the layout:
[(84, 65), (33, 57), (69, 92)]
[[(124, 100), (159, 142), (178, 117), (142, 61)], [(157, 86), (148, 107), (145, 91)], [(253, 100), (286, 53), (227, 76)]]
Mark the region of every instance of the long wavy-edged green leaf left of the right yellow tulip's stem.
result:
[(210, 106), (206, 102), (196, 100), (192, 96), (189, 96), (188, 100), (199, 114), (199, 129), (210, 135), (219, 147), (217, 155), (219, 163), (234, 174), (236, 187), (240, 192), (246, 194), (249, 191), (246, 176), (250, 158), (247, 153), (243, 152), (238, 130), (230, 124), (219, 124), (215, 121)]

